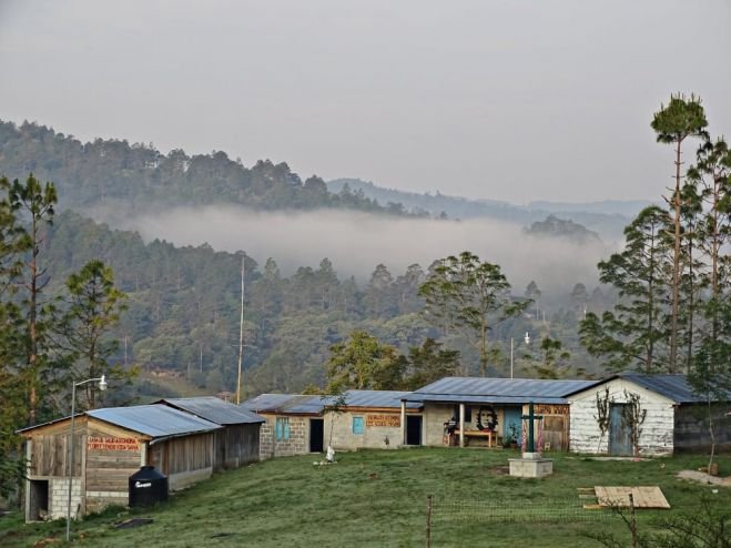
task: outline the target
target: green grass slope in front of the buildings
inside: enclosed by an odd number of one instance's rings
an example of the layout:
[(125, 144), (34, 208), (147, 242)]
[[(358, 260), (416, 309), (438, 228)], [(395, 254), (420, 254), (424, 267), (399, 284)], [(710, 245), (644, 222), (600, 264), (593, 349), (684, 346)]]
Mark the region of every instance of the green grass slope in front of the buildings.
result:
[[(621, 520), (608, 510), (581, 508), (577, 488), (658, 485), (670, 510), (638, 510), (642, 530), (680, 513), (697, 513), (703, 495), (731, 508), (731, 487), (676, 478), (705, 457), (644, 461), (591, 460), (551, 454), (555, 474), (519, 479), (506, 474), (517, 451), (412, 448), (341, 453), (338, 463), (314, 466), (316, 456), (280, 458), (214, 476), (153, 509), (110, 509), (73, 524), (75, 545), (412, 547), (425, 546), (427, 496), (434, 497), (434, 547), (599, 547), (587, 531), (612, 531), (627, 539)], [(718, 459), (731, 475), (731, 455)], [(713, 493), (717, 490), (718, 493)], [(149, 525), (114, 524), (149, 517)], [(63, 545), (65, 524), (24, 525), (17, 514), (0, 518), (0, 546)], [(626, 541), (629, 546), (629, 541)]]

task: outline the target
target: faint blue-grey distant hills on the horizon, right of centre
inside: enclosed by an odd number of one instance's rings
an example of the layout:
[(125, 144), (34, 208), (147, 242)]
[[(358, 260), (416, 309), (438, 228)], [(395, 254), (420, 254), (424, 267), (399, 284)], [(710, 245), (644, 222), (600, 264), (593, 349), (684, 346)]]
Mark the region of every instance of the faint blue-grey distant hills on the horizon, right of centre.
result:
[(346, 185), (352, 191), (362, 191), (365, 196), (379, 203), (400, 203), (406, 210), (426, 212), (432, 216), (444, 213), (450, 219), (488, 217), (528, 226), (554, 214), (579, 223), (608, 240), (621, 236), (622, 231), (637, 213), (649, 205), (649, 202), (605, 201), (586, 204), (531, 202), (527, 206), (520, 206), (500, 201), (450, 196), (439, 192), (419, 194), (384, 189), (359, 179), (337, 179), (327, 182), (331, 192), (341, 192)]

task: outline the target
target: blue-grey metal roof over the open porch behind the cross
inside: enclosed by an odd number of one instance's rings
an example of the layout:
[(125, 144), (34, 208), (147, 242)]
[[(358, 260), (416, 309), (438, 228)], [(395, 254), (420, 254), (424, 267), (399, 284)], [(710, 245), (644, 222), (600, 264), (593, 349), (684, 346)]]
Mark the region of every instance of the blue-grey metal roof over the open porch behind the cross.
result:
[(445, 377), (414, 390), (407, 402), (475, 404), (566, 404), (566, 396), (592, 385), (593, 380), (532, 378)]

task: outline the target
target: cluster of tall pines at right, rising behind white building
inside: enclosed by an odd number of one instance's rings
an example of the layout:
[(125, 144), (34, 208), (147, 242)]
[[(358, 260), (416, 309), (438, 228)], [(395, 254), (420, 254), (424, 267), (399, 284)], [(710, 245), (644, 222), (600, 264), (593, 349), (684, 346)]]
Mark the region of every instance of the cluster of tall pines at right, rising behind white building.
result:
[[(621, 252), (599, 263), (618, 303), (580, 325), (588, 351), (610, 369), (688, 373), (728, 364), (731, 351), (731, 152), (711, 136), (701, 100), (672, 95), (651, 122), (673, 148), (666, 206), (644, 209), (625, 230)], [(687, 165), (683, 146), (698, 143)], [(687, 165), (687, 168), (684, 168)]]

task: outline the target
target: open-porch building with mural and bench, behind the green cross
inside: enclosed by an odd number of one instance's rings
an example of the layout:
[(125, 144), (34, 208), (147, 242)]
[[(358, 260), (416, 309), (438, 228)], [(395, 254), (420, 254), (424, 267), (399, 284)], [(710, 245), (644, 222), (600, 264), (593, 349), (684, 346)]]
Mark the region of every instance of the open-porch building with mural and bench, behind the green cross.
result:
[[(495, 447), (521, 438), (528, 403), (544, 416), (544, 442), (551, 450), (569, 445), (566, 395), (591, 380), (445, 377), (402, 398), (424, 405), (424, 445)], [(407, 433), (403, 432), (404, 438)]]

